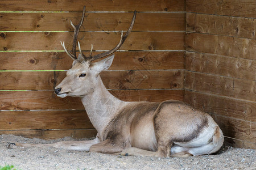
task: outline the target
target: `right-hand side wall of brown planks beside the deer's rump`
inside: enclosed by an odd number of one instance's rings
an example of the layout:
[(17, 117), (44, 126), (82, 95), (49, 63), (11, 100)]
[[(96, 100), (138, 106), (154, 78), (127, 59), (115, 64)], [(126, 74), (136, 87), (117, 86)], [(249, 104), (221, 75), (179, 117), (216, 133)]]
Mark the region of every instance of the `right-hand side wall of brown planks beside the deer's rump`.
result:
[(185, 102), (256, 148), (256, 1), (187, 0)]

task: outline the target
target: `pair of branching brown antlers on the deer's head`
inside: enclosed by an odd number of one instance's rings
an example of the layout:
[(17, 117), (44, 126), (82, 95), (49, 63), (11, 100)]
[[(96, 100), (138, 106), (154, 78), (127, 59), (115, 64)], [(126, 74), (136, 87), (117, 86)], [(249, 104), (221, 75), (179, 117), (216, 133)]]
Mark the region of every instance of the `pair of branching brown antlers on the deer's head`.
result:
[[(90, 49), (90, 55), (89, 57), (86, 57), (84, 55), (84, 53), (82, 53), (82, 50), (81, 50), (81, 47), (80, 47), (80, 43), (78, 42), (78, 45), (79, 45), (79, 52), (81, 54), (81, 56), (84, 58), (85, 61), (94, 61), (96, 59), (99, 59), (99, 58), (103, 58), (103, 57), (106, 57), (106, 56), (109, 56), (110, 54), (114, 53), (116, 50), (118, 50), (120, 48), (120, 46), (123, 44), (123, 42), (125, 42), (126, 38), (129, 36), (130, 32), (131, 32), (131, 29), (133, 29), (133, 25), (134, 25), (134, 22), (135, 22), (135, 18), (136, 18), (136, 13), (137, 11), (134, 11), (134, 14), (133, 14), (133, 19), (131, 20), (131, 25), (130, 25), (130, 28), (128, 29), (128, 31), (125, 33), (125, 36), (123, 36), (123, 31), (121, 32), (121, 40), (119, 41), (119, 44), (117, 44), (117, 46), (115, 46), (115, 48), (109, 50), (108, 52), (104, 52), (104, 53), (101, 53), (101, 54), (97, 54), (95, 56), (92, 56), (92, 50), (93, 50), (93, 45), (92, 45), (92, 48)], [(72, 53), (71, 54), (66, 48), (65, 48), (65, 44), (64, 42), (62, 43), (61, 42), (61, 45), (63, 46), (65, 52), (68, 54), (69, 57), (71, 57), (73, 60), (76, 60), (77, 57), (76, 57), (76, 42), (77, 42), (77, 36), (79, 34), (79, 29), (82, 25), (82, 22), (84, 21), (84, 15), (85, 15), (85, 6), (84, 6), (84, 10), (82, 11), (82, 18), (80, 20), (80, 23), (78, 25), (73, 25), (73, 23), (71, 22), (71, 25), (72, 27), (74, 28), (74, 39), (73, 39), (73, 48), (72, 48)]]

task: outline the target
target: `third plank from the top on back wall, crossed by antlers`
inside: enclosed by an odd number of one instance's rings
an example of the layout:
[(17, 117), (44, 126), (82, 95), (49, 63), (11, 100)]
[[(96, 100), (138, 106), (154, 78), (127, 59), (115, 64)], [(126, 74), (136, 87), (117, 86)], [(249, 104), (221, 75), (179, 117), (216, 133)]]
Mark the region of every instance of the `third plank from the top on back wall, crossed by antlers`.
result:
[[(80, 32), (82, 50), (110, 50), (120, 41), (119, 32)], [(26, 40), (26, 41), (24, 41)], [(0, 50), (63, 50), (72, 48), (73, 32), (3, 32)], [(120, 50), (184, 50), (184, 32), (131, 32)]]

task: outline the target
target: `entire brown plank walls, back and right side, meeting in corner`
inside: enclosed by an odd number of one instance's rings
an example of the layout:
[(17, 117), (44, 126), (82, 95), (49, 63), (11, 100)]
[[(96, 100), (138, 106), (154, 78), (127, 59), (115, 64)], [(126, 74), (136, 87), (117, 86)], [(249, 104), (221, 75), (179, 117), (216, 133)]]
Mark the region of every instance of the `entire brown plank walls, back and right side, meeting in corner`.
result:
[(71, 48), (69, 22), (79, 22), (84, 5), (79, 41), (87, 54), (90, 44), (94, 54), (112, 49), (138, 11), (101, 74), (113, 95), (185, 101), (211, 114), (226, 142), (256, 148), (255, 0), (0, 1), (0, 134), (96, 134), (80, 99), (53, 93), (72, 63), (60, 41)]

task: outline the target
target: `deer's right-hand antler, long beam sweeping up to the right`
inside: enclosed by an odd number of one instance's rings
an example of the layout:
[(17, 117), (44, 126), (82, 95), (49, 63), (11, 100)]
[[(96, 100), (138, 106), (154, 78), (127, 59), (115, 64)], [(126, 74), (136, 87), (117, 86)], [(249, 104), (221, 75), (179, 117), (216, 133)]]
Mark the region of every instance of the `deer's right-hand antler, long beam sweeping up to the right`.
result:
[(131, 32), (131, 29), (133, 29), (133, 25), (134, 25), (134, 22), (135, 22), (135, 19), (136, 19), (136, 13), (137, 13), (137, 11), (134, 11), (133, 19), (131, 20), (130, 28), (125, 33), (125, 36), (123, 36), (123, 31), (122, 31), (121, 40), (120, 40), (119, 44), (117, 46), (115, 46), (115, 48), (109, 50), (108, 52), (104, 52), (104, 53), (101, 53), (101, 54), (97, 54), (96, 56), (92, 56), (90, 61), (94, 61), (96, 59), (109, 56), (110, 54), (114, 53), (116, 50), (118, 50), (120, 48), (120, 46), (123, 44), (123, 42), (125, 42), (126, 38), (129, 36), (129, 34)]

